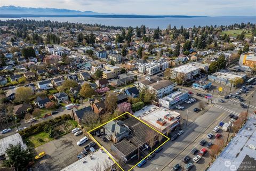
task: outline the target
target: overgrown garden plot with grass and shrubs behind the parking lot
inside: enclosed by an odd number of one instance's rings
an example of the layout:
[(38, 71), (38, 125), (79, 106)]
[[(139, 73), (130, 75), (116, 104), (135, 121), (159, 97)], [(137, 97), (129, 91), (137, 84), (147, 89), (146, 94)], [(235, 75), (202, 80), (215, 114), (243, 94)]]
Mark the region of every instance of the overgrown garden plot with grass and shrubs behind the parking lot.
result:
[(71, 119), (70, 115), (62, 115), (23, 129), (19, 133), (32, 149), (70, 133), (76, 126), (76, 121)]

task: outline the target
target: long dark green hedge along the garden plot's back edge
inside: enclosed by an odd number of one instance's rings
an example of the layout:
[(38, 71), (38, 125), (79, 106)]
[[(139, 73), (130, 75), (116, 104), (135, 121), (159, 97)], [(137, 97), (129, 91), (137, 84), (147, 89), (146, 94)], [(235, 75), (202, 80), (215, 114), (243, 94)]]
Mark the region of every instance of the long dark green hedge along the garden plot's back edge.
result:
[(20, 133), (20, 135), (23, 138), (27, 138), (27, 137), (29, 137), (31, 135), (35, 135), (37, 133), (40, 133), (40, 132), (44, 131), (44, 127), (46, 125), (53, 126), (55, 124), (60, 123), (63, 120), (70, 120), (70, 119), (71, 119), (70, 115), (65, 114), (65, 115), (56, 117), (54, 119), (46, 120), (46, 121), (44, 121), (42, 123), (38, 123), (38, 124), (33, 125), (33, 126), (29, 127), (29, 128), (23, 129), (19, 133)]

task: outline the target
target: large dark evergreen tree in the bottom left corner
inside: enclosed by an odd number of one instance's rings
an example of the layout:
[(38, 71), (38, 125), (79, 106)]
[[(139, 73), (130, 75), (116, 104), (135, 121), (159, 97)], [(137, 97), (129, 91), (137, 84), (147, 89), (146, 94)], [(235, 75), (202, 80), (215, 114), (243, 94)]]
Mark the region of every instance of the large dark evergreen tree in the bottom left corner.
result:
[(33, 159), (33, 153), (30, 153), (28, 149), (22, 148), (21, 144), (10, 144), (5, 153), (8, 158), (4, 160), (4, 166), (14, 167), (15, 170), (25, 171), (29, 162)]

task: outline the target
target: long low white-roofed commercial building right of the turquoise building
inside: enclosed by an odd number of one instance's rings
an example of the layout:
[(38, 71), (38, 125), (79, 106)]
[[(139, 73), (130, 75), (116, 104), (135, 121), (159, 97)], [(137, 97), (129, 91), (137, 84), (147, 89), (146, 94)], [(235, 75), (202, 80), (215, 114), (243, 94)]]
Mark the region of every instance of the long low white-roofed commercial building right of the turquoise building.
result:
[(237, 72), (220, 71), (220, 72), (215, 72), (212, 75), (208, 75), (208, 79), (215, 83), (220, 83), (223, 85), (230, 86), (235, 79), (245, 80), (246, 74), (241, 74)]

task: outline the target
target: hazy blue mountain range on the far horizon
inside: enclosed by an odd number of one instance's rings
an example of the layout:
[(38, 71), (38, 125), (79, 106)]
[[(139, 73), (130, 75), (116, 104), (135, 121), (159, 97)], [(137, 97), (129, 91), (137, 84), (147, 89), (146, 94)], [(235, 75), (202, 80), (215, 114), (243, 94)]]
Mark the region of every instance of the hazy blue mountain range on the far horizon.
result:
[(0, 17), (19, 18), (19, 17), (98, 17), (98, 18), (194, 18), (206, 16), (188, 15), (136, 15), (136, 14), (107, 14), (93, 11), (78, 11), (68, 9), (53, 8), (34, 8), (20, 6), (1, 6)]

